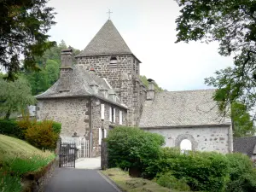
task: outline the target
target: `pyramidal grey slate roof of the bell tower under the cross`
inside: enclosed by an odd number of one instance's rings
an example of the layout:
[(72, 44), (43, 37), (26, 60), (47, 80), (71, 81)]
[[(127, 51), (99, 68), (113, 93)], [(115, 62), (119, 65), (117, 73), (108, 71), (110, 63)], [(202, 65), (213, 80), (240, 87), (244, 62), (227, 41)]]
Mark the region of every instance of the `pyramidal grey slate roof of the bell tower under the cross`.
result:
[(102, 26), (86, 48), (77, 56), (132, 54), (111, 20)]

